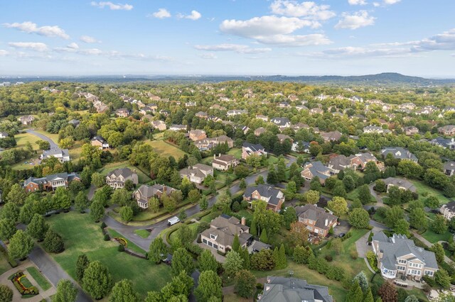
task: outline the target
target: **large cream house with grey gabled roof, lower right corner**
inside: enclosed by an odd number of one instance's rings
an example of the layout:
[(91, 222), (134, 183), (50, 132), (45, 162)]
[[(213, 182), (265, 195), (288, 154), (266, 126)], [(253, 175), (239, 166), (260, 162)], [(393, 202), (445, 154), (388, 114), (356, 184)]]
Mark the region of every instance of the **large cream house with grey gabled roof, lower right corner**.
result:
[(373, 236), (373, 252), (378, 257), (378, 268), (386, 279), (395, 279), (400, 274), (420, 279), (434, 276), (438, 264), (434, 252), (416, 247), (405, 235), (387, 237), (382, 232)]

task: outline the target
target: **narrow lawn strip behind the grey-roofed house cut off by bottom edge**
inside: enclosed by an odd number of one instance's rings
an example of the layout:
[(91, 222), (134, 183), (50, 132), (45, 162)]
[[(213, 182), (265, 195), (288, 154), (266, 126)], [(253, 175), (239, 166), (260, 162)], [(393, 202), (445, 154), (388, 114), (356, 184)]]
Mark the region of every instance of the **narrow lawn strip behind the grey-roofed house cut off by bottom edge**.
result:
[(319, 274), (319, 272), (309, 269), (304, 264), (296, 264), (290, 259), (288, 259), (288, 266), (286, 269), (279, 269), (272, 272), (252, 271), (252, 273), (255, 274), (257, 278), (262, 278), (266, 276), (289, 276), (289, 271), (294, 272), (294, 278), (304, 279), (308, 281), (309, 284), (328, 286), (328, 293), (333, 296), (334, 301), (345, 301), (346, 293), (348, 293), (348, 291), (343, 289), (341, 282), (329, 280), (323, 274)]

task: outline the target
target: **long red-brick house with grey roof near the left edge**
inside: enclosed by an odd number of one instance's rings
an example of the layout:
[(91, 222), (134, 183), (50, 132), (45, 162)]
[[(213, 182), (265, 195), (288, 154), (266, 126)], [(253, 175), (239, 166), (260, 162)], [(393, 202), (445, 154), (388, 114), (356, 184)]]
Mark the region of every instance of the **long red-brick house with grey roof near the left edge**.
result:
[(65, 189), (68, 188), (68, 185), (71, 181), (77, 180), (80, 181), (80, 176), (77, 173), (58, 173), (50, 174), (46, 177), (28, 177), (26, 181), (23, 182), (23, 187), (27, 192), (34, 191), (55, 191), (55, 189), (63, 186)]

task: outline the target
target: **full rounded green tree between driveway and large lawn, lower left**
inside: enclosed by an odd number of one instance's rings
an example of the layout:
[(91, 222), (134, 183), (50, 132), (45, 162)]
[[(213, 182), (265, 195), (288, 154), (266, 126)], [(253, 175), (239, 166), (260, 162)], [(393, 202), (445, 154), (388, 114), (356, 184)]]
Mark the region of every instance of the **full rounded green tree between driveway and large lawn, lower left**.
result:
[(107, 296), (112, 288), (112, 276), (109, 269), (99, 261), (90, 262), (82, 277), (82, 289), (97, 300)]

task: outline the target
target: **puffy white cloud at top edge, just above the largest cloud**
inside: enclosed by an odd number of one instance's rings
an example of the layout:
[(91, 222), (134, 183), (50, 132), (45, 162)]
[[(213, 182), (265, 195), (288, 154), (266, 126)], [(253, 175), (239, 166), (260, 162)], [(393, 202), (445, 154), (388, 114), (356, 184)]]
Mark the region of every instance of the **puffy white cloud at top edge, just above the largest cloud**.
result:
[[(362, 1), (362, 0), (360, 0)], [(271, 5), (272, 13), (289, 17), (303, 17), (311, 20), (325, 21), (336, 16), (328, 5), (317, 5), (313, 1), (275, 0)]]

